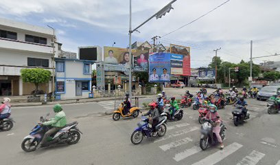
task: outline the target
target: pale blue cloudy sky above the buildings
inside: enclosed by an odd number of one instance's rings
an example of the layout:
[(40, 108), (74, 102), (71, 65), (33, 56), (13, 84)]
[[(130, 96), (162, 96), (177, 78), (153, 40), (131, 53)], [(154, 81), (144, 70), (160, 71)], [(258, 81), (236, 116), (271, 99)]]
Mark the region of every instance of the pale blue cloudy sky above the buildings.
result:
[[(136, 28), (171, 0), (132, 0), (132, 28)], [(163, 36), (197, 19), (226, 0), (177, 0), (174, 10), (145, 23), (132, 33), (132, 43)], [(280, 1), (231, 0), (205, 17), (157, 40), (163, 45), (191, 47), (191, 67), (207, 66), (220, 48), (223, 61), (249, 61), (280, 54)], [(129, 0), (0, 0), (0, 17), (56, 29), (62, 50), (80, 46), (128, 46)], [(280, 61), (280, 56), (254, 59), (254, 63)]]

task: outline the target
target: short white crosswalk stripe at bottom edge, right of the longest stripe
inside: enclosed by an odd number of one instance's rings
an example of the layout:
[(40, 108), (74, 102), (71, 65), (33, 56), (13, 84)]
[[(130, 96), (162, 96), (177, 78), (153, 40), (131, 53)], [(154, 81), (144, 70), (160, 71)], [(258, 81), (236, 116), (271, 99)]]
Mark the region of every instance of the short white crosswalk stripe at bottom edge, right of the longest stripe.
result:
[(255, 165), (264, 155), (266, 154), (253, 150), (252, 153), (244, 157), (237, 165)]

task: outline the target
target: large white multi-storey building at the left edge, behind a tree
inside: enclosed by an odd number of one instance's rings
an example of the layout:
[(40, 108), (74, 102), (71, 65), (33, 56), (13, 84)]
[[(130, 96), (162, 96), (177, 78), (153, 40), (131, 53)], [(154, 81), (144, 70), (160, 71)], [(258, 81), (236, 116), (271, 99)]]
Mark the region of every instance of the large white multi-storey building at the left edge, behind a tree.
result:
[[(53, 33), (50, 28), (0, 19), (0, 96), (28, 95), (35, 89), (32, 83), (23, 83), (23, 68), (52, 71), (53, 45), (58, 53)], [(40, 89), (50, 92), (51, 81)]]

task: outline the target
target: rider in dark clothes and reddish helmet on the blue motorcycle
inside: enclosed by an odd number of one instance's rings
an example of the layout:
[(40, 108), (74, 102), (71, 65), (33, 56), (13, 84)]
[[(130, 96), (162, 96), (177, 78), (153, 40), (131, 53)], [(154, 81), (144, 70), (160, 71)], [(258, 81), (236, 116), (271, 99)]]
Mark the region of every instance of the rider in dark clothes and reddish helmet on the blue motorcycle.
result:
[(149, 123), (152, 122), (152, 136), (156, 136), (156, 125), (159, 123), (159, 110), (156, 109), (155, 102), (151, 102), (148, 106), (150, 110), (144, 115), (149, 115)]

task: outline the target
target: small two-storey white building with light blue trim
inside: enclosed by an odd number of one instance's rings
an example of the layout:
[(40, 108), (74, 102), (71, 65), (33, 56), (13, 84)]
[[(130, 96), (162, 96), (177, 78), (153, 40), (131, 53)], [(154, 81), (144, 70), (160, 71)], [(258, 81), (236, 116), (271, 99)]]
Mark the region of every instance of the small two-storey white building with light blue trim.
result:
[(56, 99), (89, 98), (93, 61), (55, 58)]

